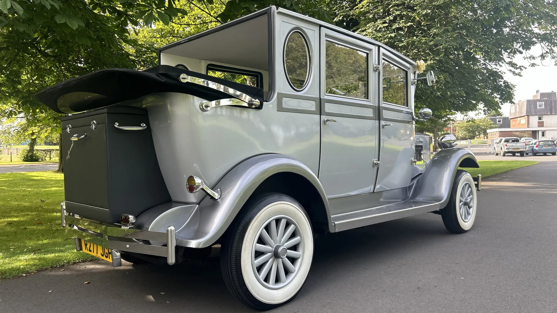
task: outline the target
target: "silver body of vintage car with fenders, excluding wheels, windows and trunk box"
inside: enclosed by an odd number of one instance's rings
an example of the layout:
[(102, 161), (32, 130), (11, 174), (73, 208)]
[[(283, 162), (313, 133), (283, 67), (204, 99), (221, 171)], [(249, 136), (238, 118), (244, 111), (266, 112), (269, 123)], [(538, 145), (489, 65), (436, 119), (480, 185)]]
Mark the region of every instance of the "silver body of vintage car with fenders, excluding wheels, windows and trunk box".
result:
[[(309, 82), (302, 90), (292, 88), (283, 62), (285, 40), (294, 30), (305, 35), (310, 51)], [(367, 58), (367, 99), (325, 92), (326, 42)], [(383, 61), (405, 73), (407, 105), (382, 101)], [(143, 230), (137, 236), (150, 238), (153, 246), (163, 246), (165, 232), (175, 236), (177, 246), (211, 246), (248, 198), (266, 190), (292, 195), (304, 205), (314, 228), (329, 232), (437, 211), (449, 200), (457, 168), (478, 167), (466, 149), (431, 156), (429, 136), (414, 135), (414, 61), (317, 19), (270, 7), (162, 47), (159, 63), (203, 74), (209, 64), (259, 72), (265, 102), (261, 110), (217, 106), (203, 111), (199, 105), (204, 99), (168, 92), (125, 104), (148, 111), (172, 197), (172, 203), (141, 213), (134, 224)], [(423, 162), (416, 159), (417, 144), (424, 151)], [(221, 198), (189, 193), (190, 175), (220, 189)], [(65, 216), (80, 229), (91, 227), (90, 221), (68, 212)], [(70, 230), (98, 240), (80, 229)], [(123, 237), (138, 233), (129, 232)], [(108, 239), (113, 249), (156, 255), (167, 251), (160, 247), (155, 253), (145, 246), (126, 242), (123, 248)]]

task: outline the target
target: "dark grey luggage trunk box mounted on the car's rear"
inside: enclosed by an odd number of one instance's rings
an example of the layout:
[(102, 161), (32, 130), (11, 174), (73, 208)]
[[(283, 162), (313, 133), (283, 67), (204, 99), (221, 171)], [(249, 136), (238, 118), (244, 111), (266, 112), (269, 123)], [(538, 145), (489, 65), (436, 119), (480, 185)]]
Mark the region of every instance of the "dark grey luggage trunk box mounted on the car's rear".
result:
[(145, 110), (110, 106), (65, 116), (61, 144), (67, 212), (118, 223), (121, 214), (170, 202)]

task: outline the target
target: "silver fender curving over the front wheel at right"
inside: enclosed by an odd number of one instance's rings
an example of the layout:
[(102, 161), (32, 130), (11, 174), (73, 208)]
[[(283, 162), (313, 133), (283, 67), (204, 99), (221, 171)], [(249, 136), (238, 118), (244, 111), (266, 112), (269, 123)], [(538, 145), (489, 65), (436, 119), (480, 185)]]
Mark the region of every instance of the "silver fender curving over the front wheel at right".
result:
[(458, 167), (479, 168), (476, 156), (467, 149), (443, 149), (436, 153), (418, 178), (418, 201), (438, 202), (447, 205)]

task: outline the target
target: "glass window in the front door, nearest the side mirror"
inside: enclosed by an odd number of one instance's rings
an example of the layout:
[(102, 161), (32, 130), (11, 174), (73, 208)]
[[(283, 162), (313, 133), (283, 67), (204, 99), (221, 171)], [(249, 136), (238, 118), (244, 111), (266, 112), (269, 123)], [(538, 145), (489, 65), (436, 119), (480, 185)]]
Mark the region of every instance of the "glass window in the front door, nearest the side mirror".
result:
[(383, 102), (408, 106), (407, 71), (383, 60)]

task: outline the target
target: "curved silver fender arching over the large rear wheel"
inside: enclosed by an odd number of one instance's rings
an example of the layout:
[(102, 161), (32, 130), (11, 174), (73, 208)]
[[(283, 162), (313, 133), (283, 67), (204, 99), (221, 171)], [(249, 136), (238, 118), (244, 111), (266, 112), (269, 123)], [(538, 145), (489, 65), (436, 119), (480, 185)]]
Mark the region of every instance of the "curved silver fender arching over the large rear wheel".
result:
[(301, 175), (311, 182), (321, 195), (329, 219), (329, 202), (319, 179), (299, 160), (282, 154), (262, 154), (243, 160), (213, 186), (221, 188), (218, 200), (204, 197), (199, 203), (197, 229), (191, 239), (177, 239), (179, 246), (203, 248), (213, 244), (232, 223), (256, 188), (268, 177), (281, 172)]

